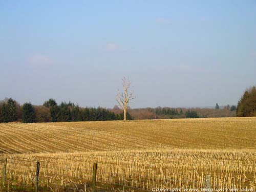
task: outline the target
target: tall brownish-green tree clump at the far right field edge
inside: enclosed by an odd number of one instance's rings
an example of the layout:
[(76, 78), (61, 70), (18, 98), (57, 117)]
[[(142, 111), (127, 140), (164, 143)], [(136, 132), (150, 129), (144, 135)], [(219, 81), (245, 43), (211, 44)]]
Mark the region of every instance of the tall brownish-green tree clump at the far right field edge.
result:
[(246, 90), (237, 105), (238, 117), (256, 116), (256, 88)]

